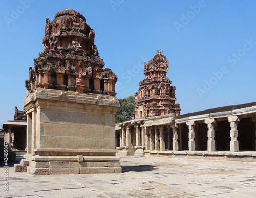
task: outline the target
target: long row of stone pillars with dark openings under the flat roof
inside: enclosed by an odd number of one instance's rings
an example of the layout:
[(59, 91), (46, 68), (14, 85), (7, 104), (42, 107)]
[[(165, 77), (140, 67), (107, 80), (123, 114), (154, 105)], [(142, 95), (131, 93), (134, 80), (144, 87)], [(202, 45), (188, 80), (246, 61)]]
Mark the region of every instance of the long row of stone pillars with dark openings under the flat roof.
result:
[[(249, 136), (250, 146), (247, 148), (243, 137), (239, 140), (240, 116), (225, 118), (207, 118), (200, 120), (177, 119), (172, 123), (147, 125), (147, 121), (126, 123), (121, 125), (119, 147), (142, 147), (144, 150), (180, 151), (180, 150), (229, 150), (230, 152), (243, 149), (256, 150), (256, 117), (243, 118), (243, 126), (250, 126), (240, 131), (241, 136)], [(241, 128), (241, 127), (240, 127)], [(248, 133), (248, 134), (242, 134)], [(241, 141), (241, 144), (239, 143)], [(200, 144), (204, 144), (202, 146)], [(207, 144), (207, 146), (206, 146)], [(226, 148), (227, 147), (227, 148)]]

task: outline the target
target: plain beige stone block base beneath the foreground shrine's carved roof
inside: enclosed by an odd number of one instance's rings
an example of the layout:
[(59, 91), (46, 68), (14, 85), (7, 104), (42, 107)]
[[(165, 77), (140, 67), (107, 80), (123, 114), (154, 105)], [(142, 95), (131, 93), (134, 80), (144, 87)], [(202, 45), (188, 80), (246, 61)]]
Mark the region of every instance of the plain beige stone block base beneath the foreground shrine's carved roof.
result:
[(37, 89), (24, 100), (27, 154), (15, 171), (30, 174), (120, 173), (116, 97)]

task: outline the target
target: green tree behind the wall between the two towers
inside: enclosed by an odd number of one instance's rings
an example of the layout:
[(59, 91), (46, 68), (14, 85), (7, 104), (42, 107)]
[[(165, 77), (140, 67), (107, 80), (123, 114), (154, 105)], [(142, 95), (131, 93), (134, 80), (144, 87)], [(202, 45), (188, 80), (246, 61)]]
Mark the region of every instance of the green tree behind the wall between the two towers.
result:
[(118, 99), (120, 107), (116, 113), (116, 123), (125, 122), (131, 120), (131, 115), (134, 114), (134, 96), (129, 96), (127, 98)]

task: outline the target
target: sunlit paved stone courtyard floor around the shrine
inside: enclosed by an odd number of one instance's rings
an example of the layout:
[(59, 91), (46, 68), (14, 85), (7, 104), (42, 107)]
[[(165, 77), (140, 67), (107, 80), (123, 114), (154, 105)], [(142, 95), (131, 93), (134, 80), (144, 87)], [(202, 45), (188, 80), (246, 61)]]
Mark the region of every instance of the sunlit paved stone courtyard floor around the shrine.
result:
[(0, 197), (256, 197), (256, 163), (127, 156), (120, 174), (47, 176), (9, 166), (8, 194), (0, 168)]

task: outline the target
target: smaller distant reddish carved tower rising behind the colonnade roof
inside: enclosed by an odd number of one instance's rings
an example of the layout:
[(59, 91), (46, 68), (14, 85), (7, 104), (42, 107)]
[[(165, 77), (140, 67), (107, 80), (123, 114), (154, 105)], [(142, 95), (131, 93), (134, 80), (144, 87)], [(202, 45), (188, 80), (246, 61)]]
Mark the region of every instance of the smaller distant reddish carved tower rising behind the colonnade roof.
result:
[(148, 63), (144, 63), (145, 79), (139, 82), (139, 91), (135, 93), (135, 119), (160, 116), (170, 113), (180, 115), (180, 105), (175, 104), (175, 86), (166, 77), (169, 61), (157, 50), (157, 54)]

